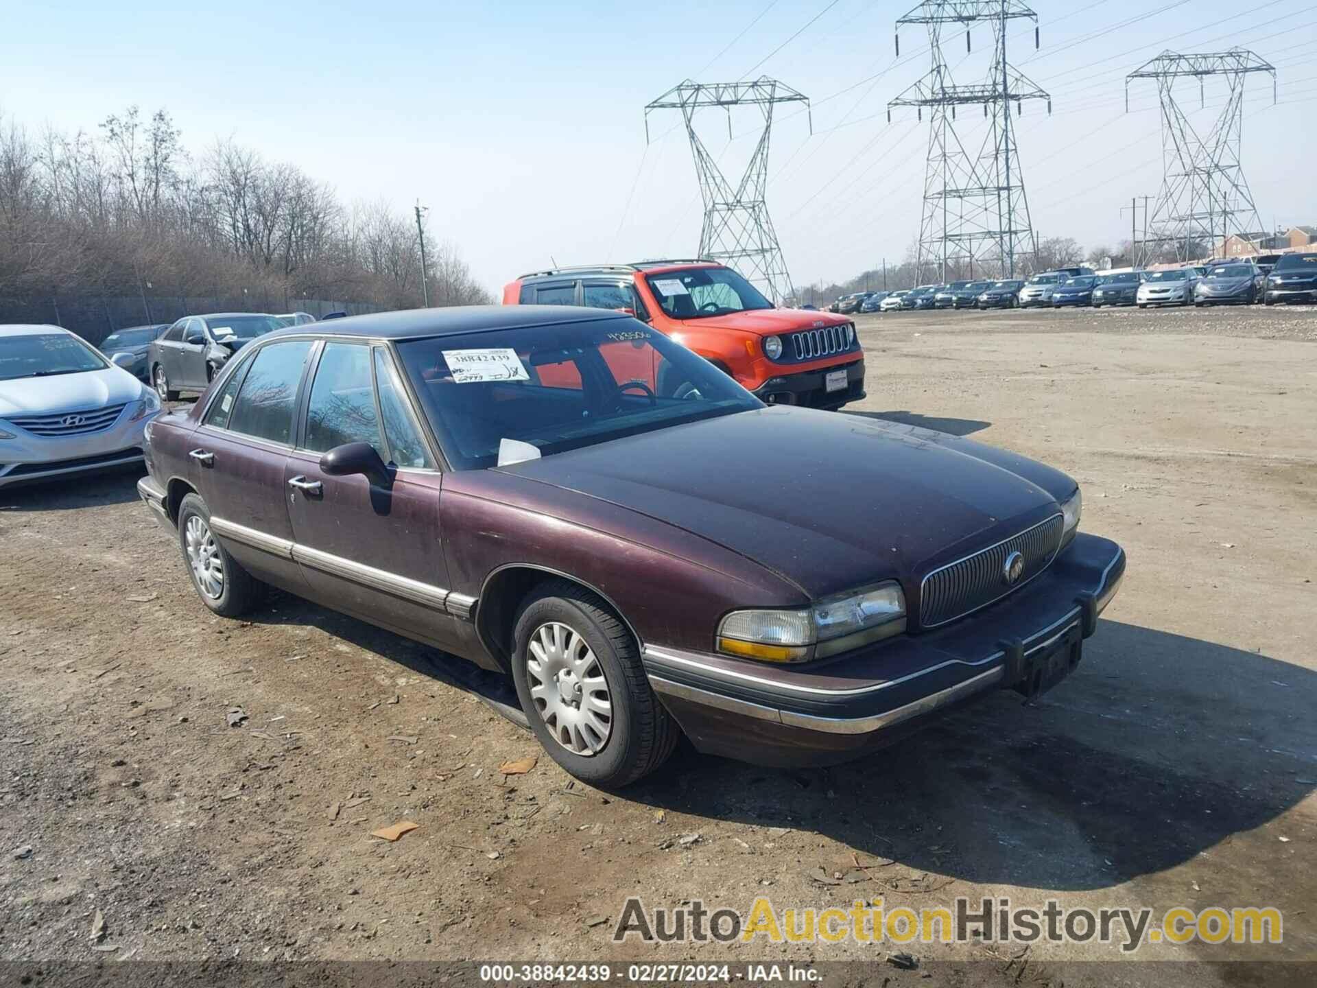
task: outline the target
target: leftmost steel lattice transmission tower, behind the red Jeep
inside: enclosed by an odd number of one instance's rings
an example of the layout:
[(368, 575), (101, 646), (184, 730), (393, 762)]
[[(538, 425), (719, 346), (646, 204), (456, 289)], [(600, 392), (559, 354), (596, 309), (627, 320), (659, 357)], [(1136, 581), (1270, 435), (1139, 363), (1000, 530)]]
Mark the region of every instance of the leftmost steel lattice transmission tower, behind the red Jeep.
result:
[[(786, 261), (777, 244), (773, 221), (768, 216), (764, 190), (768, 184), (768, 148), (773, 133), (773, 108), (780, 103), (803, 103), (807, 96), (766, 75), (745, 83), (702, 84), (687, 79), (645, 107), (645, 140), (649, 140), (649, 112), (680, 109), (695, 159), (699, 195), (705, 202), (705, 223), (699, 231), (699, 257), (720, 261), (755, 282), (773, 304), (794, 295)], [(727, 136), (731, 138), (732, 107), (759, 107), (764, 129), (751, 154), (745, 174), (732, 184), (695, 133), (695, 111), (723, 107), (727, 111)], [(813, 130), (813, 126), (810, 128)]]

